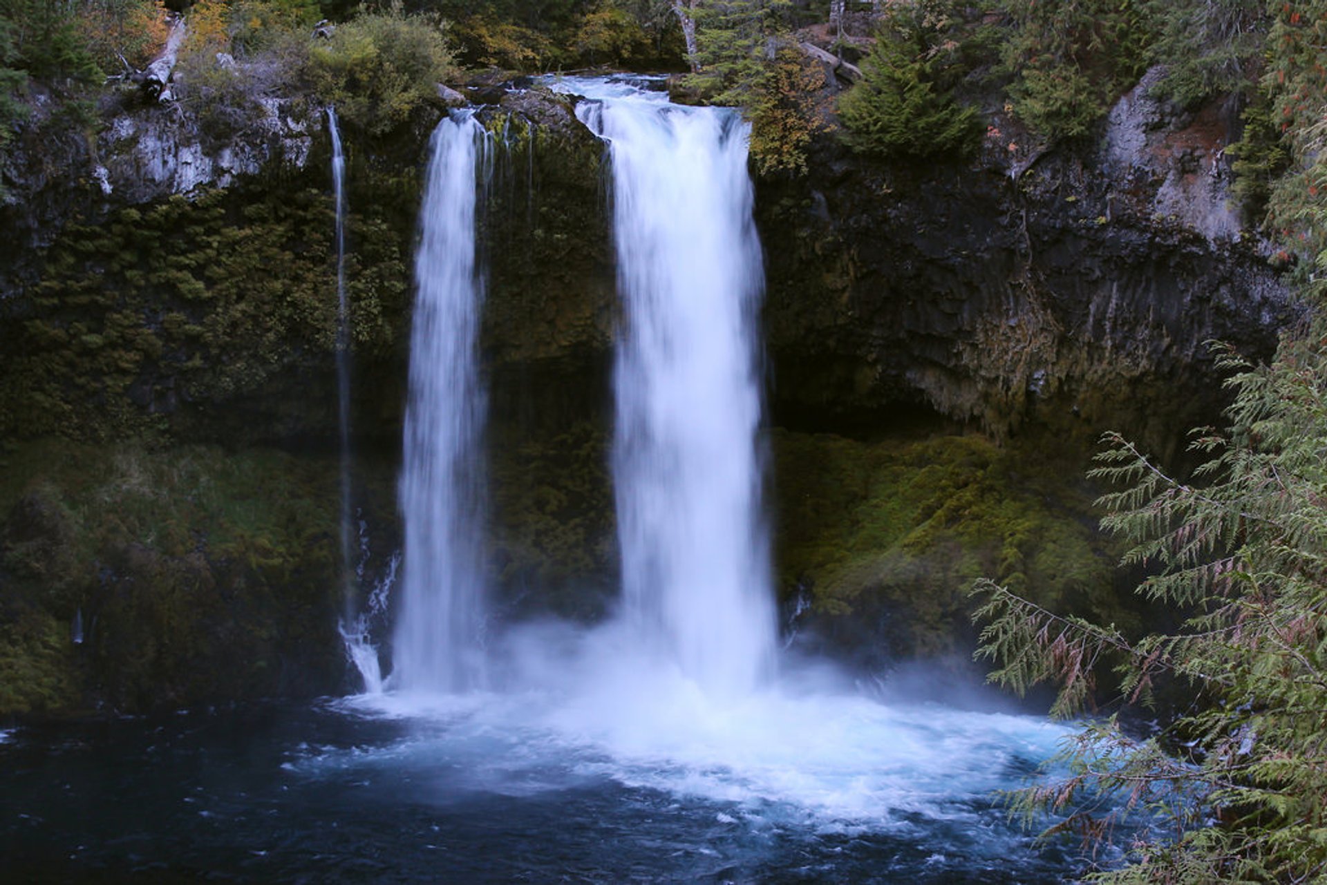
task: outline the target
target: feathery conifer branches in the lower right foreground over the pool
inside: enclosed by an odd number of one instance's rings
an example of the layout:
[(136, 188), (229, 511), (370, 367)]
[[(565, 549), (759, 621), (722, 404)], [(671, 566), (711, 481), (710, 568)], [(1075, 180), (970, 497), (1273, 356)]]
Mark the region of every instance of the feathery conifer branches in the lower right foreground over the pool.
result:
[[(1307, 291), (1322, 308), (1323, 284)], [(1066, 809), (1060, 829), (1103, 839), (1144, 805), (1169, 816), (1168, 839), (1141, 837), (1129, 865), (1100, 881), (1319, 881), (1327, 876), (1327, 321), (1289, 334), (1269, 366), (1229, 352), (1230, 429), (1201, 431), (1193, 480), (1165, 472), (1120, 437), (1097, 478), (1103, 525), (1154, 573), (1139, 592), (1182, 618), (1129, 640), (979, 582), (981, 653), (991, 678), (1026, 691), (1059, 681), (1056, 713), (1092, 701), (1099, 661), (1117, 663), (1124, 698), (1147, 702), (1178, 682), (1198, 702), (1149, 740), (1115, 720), (1067, 748), (1071, 776), (1027, 791), (1027, 811)], [(1119, 796), (1104, 816), (1092, 799)], [(1105, 804), (1109, 807), (1109, 803)]]

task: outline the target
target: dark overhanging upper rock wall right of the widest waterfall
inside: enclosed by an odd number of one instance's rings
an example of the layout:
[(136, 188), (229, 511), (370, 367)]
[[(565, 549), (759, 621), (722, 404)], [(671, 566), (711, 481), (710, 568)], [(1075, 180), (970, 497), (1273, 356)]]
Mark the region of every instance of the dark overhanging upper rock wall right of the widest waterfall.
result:
[[(1117, 427), (1169, 454), (1221, 398), (1208, 342), (1258, 358), (1289, 316), (1229, 204), (1229, 109), (1168, 118), (1149, 80), (1091, 150), (989, 130), (966, 167), (860, 162), (760, 190), (776, 402), (888, 422), (916, 402), (998, 437)], [(1182, 391), (1182, 393), (1181, 393)]]

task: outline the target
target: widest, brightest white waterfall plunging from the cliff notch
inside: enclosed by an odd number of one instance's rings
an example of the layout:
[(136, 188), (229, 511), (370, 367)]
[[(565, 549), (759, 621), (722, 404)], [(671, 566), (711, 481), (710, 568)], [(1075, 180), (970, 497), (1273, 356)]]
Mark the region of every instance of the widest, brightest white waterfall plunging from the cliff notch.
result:
[(597, 98), (577, 115), (612, 155), (625, 612), (702, 689), (747, 694), (772, 669), (776, 634), (756, 450), (764, 277), (748, 127), (730, 109), (660, 93), (568, 89)]

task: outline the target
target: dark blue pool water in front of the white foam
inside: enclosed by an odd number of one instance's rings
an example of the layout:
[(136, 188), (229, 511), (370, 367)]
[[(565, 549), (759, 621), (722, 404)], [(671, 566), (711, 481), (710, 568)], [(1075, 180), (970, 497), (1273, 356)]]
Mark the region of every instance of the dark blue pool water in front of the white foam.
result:
[(0, 744), (0, 771), (5, 882), (1055, 882), (1074, 870), (1070, 849), (1035, 848), (989, 797), (836, 820), (759, 791), (649, 785), (593, 747), (474, 715), (263, 706), (28, 727)]

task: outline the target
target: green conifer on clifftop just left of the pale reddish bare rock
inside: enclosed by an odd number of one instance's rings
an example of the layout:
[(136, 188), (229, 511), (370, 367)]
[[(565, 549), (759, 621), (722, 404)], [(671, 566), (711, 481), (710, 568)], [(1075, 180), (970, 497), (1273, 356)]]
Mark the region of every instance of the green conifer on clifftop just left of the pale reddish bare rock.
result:
[(1001, 56), (1014, 113), (1048, 141), (1083, 138), (1147, 65), (1148, 20), (1136, 0), (1007, 0)]

